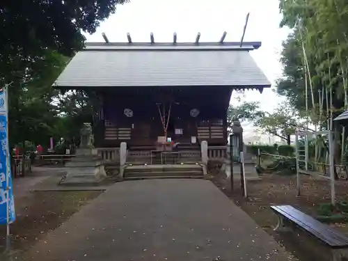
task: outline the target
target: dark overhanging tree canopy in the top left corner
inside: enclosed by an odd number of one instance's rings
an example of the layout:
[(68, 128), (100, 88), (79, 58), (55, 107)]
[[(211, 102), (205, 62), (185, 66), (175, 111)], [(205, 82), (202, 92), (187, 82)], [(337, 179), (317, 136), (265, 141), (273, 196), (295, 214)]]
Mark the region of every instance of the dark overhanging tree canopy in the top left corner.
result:
[(118, 3), (125, 0), (2, 1), (1, 63), (16, 55), (33, 56), (43, 49), (74, 54), (84, 45), (82, 32), (95, 33), (100, 22), (115, 13)]

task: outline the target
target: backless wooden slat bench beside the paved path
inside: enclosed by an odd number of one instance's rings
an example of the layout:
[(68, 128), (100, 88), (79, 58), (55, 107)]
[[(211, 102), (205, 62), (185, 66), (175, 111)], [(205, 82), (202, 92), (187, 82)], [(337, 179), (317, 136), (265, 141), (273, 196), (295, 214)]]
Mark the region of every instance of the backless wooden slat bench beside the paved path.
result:
[(333, 261), (348, 258), (348, 236), (344, 233), (317, 221), (317, 219), (313, 219), (312, 216), (308, 216), (308, 214), (290, 205), (271, 206), (271, 209), (278, 216), (278, 225), (274, 230), (284, 229), (287, 225), (294, 225), (329, 246)]

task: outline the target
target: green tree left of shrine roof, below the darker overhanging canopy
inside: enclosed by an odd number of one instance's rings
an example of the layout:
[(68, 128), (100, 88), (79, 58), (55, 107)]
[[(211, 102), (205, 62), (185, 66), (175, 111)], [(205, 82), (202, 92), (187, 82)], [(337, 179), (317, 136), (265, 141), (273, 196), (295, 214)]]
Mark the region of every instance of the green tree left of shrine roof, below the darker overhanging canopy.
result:
[(22, 78), (14, 79), (8, 87), (10, 145), (49, 142), (49, 128), (57, 115), (52, 104), (56, 90), (51, 84), (67, 61), (65, 56), (46, 50), (31, 68), (17, 72)]

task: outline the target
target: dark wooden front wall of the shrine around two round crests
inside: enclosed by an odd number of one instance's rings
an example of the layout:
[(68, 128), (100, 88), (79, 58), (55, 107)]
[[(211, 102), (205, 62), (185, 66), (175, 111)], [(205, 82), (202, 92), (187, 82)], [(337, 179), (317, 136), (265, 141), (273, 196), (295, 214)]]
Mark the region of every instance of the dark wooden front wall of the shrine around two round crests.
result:
[[(196, 136), (198, 141), (226, 145), (226, 102), (214, 102), (212, 95), (173, 95), (168, 136), (174, 142), (190, 143), (191, 136)], [(164, 136), (157, 95), (103, 93), (102, 96), (103, 117), (98, 124), (96, 138), (98, 147), (118, 147), (122, 141), (127, 142), (129, 147), (151, 146), (155, 145), (158, 136)], [(163, 109), (163, 106), (160, 108)], [(200, 111), (196, 118), (190, 116), (193, 108)], [(132, 109), (133, 117), (125, 116), (125, 109)], [(175, 129), (182, 129), (182, 134), (175, 134)]]

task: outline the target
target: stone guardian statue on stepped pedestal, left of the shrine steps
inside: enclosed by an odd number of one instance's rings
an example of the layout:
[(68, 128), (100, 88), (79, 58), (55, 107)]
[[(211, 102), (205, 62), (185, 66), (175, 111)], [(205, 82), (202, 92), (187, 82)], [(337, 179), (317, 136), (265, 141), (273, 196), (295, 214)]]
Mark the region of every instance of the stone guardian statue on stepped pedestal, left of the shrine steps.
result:
[(106, 177), (102, 159), (97, 155), (93, 146), (93, 134), (90, 123), (84, 123), (81, 129), (81, 143), (76, 150), (76, 157), (65, 164), (68, 168), (66, 177), (61, 185), (66, 186), (95, 186)]

